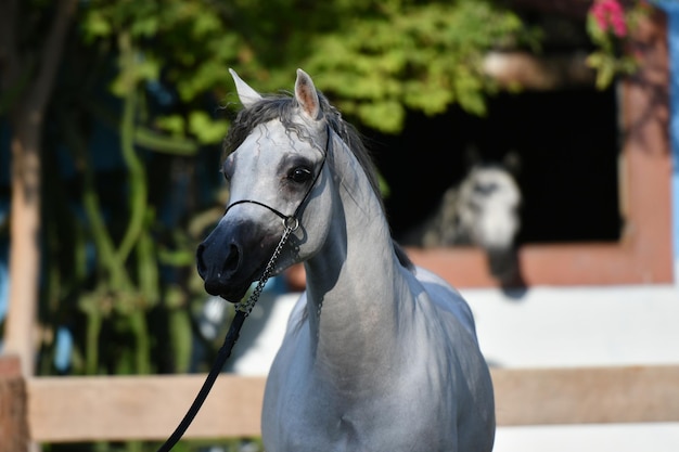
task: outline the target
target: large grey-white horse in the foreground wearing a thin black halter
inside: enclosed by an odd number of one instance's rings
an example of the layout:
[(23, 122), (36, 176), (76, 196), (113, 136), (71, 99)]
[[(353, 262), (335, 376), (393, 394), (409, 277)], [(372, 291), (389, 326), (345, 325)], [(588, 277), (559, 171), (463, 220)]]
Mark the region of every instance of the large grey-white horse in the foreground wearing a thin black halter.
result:
[(298, 222), (274, 272), (304, 262), (307, 275), (267, 379), (266, 450), (490, 451), (494, 391), (472, 313), (393, 242), (355, 130), (302, 69), (293, 96), (231, 74), (244, 108), (225, 142), (230, 205), (198, 272), (239, 301)]

